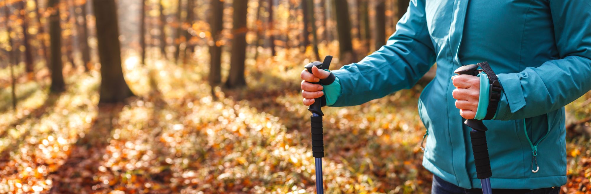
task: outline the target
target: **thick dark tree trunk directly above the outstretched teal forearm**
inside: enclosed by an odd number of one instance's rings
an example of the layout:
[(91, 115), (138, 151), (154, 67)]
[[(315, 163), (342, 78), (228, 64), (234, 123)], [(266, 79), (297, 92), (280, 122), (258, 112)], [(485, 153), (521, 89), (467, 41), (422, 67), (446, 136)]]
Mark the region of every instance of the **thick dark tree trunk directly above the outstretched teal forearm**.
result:
[(349, 20), (349, 4), (346, 0), (334, 0), (336, 25), (339, 33), (340, 61), (344, 64), (355, 60), (353, 44), (351, 43), (351, 22)]

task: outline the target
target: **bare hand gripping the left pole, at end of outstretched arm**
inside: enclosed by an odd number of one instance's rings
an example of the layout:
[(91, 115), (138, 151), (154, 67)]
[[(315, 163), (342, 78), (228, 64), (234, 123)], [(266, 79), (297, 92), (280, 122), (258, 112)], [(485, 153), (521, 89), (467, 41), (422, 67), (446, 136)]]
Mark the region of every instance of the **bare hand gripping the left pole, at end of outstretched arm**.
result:
[(323, 86), (320, 84), (313, 84), (313, 82), (320, 82), (320, 79), (325, 79), (330, 75), (322, 69), (318, 69), (316, 66), (312, 67), (312, 73), (304, 69), (301, 72), (301, 96), (304, 97), (304, 105), (310, 106), (314, 104), (314, 98), (320, 98), (324, 95), (322, 92)]

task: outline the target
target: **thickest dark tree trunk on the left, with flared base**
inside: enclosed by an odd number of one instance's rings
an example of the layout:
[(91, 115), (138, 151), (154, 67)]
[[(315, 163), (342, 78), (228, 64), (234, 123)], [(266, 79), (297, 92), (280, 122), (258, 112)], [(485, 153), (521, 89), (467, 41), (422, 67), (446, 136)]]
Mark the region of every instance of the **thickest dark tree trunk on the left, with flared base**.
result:
[[(53, 0), (55, 1), (55, 0)], [(96, 39), (100, 59), (100, 99), (101, 103), (124, 102), (133, 96), (121, 69), (121, 46), (115, 0), (95, 0), (93, 8), (96, 16)]]

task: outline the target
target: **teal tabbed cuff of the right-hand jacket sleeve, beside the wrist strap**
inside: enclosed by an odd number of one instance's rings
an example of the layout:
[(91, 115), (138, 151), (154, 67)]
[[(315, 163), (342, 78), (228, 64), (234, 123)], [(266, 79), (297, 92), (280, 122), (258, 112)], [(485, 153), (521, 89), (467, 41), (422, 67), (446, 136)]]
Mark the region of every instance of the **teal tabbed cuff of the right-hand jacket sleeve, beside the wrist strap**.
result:
[(502, 73), (496, 76), (503, 86), (501, 101), (496, 109), (496, 119), (506, 120), (525, 106), (525, 96), (517, 73)]

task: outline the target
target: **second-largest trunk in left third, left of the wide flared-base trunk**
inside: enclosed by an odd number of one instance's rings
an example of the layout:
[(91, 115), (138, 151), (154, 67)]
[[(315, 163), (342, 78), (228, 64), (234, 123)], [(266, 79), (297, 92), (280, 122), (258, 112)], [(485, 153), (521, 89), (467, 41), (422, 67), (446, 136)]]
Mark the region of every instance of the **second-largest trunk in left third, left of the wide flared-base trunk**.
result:
[(61, 27), (60, 27), (60, 9), (59, 0), (49, 0), (48, 8), (53, 9), (49, 17), (49, 39), (51, 52), (51, 86), (53, 93), (59, 93), (66, 90), (64, 76), (62, 75), (61, 62)]

